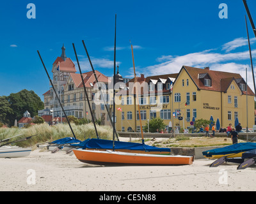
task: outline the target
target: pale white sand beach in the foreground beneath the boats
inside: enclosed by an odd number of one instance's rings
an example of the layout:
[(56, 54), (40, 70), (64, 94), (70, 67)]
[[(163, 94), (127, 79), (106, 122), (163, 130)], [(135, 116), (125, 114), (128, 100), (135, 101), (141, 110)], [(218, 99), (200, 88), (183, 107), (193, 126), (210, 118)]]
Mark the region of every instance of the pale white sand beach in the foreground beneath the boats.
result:
[[(236, 170), (212, 160), (186, 166), (97, 166), (81, 163), (73, 154), (39, 152), (28, 157), (0, 159), (0, 191), (255, 191), (256, 168)], [(29, 169), (36, 184), (28, 184)], [(219, 174), (222, 170), (227, 173)], [(223, 182), (227, 181), (227, 184)]]

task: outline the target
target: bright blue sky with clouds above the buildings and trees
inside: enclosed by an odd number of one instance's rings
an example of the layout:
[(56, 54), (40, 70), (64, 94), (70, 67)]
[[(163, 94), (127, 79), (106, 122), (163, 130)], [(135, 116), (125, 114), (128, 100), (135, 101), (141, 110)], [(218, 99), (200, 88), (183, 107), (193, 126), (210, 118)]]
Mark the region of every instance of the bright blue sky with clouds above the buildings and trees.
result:
[[(35, 19), (27, 18), (29, 3), (36, 6)], [(227, 19), (219, 18), (221, 3), (228, 6)], [(256, 1), (247, 3), (256, 24)], [(84, 40), (94, 68), (111, 77), (115, 14), (116, 60), (123, 77), (133, 73), (131, 40), (138, 75), (177, 73), (187, 65), (210, 66), (245, 78), (248, 67), (248, 84), (253, 89), (242, 0), (11, 0), (0, 8), (0, 96), (28, 89), (43, 98), (49, 80), (36, 50), (50, 72), (63, 43), (67, 57), (76, 63), (75, 43), (83, 71), (90, 71)], [(248, 28), (256, 66), (256, 39), (249, 20)]]

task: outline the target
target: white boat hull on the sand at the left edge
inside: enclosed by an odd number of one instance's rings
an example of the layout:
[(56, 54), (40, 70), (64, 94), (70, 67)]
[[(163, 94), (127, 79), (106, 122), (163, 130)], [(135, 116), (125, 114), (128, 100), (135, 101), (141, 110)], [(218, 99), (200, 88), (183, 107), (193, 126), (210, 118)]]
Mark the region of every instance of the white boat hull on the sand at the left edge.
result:
[(18, 146), (0, 147), (0, 158), (17, 158), (29, 156), (30, 148), (22, 148)]

